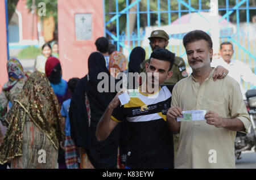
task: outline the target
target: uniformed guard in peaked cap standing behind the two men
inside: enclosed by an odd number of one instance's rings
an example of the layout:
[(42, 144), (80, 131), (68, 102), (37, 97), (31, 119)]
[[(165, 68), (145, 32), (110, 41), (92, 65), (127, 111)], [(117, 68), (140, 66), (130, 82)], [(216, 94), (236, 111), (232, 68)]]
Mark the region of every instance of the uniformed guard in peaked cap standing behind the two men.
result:
[[(166, 49), (166, 46), (169, 43), (169, 36), (167, 33), (163, 30), (156, 30), (152, 31), (150, 37), (148, 37), (150, 40), (150, 46), (152, 50), (162, 48)], [(141, 72), (146, 72), (146, 63), (148, 63), (149, 59), (146, 59), (141, 63)], [(176, 84), (180, 79), (186, 78), (188, 76), (186, 68), (185, 68), (185, 62), (182, 58), (175, 56), (174, 58), (174, 65), (172, 66), (173, 75), (171, 78), (167, 79), (164, 82), (164, 85), (174, 85)], [(179, 134), (174, 134), (174, 157), (177, 153), (177, 148), (179, 144)]]

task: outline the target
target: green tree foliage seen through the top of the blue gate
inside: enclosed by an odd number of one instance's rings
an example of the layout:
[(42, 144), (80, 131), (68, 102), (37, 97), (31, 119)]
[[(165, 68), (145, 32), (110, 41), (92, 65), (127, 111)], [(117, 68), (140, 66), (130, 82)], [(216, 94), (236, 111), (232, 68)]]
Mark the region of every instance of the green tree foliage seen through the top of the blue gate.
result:
[[(210, 0), (201, 0), (201, 5), (199, 5), (199, 0), (183, 0), (188, 5), (191, 5), (196, 10), (201, 9), (202, 11), (209, 11), (210, 9)], [(129, 5), (131, 4), (131, 0), (128, 1)], [(160, 7), (158, 7), (158, 0), (150, 0), (150, 25), (158, 25), (158, 11), (165, 11), (160, 14), (160, 23), (161, 25), (167, 25), (168, 24), (168, 1), (167, 0), (160, 0)], [(190, 2), (190, 4), (189, 4)], [(229, 0), (229, 8), (233, 8), (237, 5), (240, 1), (238, 0)], [(218, 1), (218, 8), (222, 8), (222, 10), (218, 11), (220, 15), (226, 14), (226, 1)], [(256, 1), (255, 0), (249, 0), (249, 6), (255, 7)], [(118, 0), (118, 11), (123, 10), (126, 7), (126, 0)], [(142, 0), (139, 2), (139, 19), (140, 19), (140, 27), (146, 27), (147, 26), (147, 0)], [(246, 2), (243, 3), (240, 7), (246, 7)], [(176, 20), (179, 17), (179, 10), (181, 10), (180, 14), (184, 15), (187, 14), (189, 9), (179, 3), (178, 1), (171, 0), (170, 1), (170, 10), (171, 10), (171, 22)], [(112, 18), (112, 16), (115, 15), (116, 6), (114, 0), (105, 0), (105, 13), (106, 13), (106, 22), (108, 22), (109, 19)], [(136, 10), (137, 11), (137, 10)], [(192, 12), (192, 11), (191, 11)], [(240, 12), (240, 22), (246, 22), (246, 10), (239, 10)], [(132, 13), (132, 12), (130, 12)], [(250, 16), (250, 22), (251, 17), (253, 15), (256, 15), (256, 10), (249, 10), (249, 16)], [(137, 17), (135, 17), (137, 18)], [(131, 19), (130, 19), (131, 20)], [(237, 15), (236, 11), (234, 11), (229, 16), (230, 22), (236, 23)], [(116, 26), (116, 22), (112, 22), (108, 25), (107, 28), (113, 28)], [(135, 23), (135, 28), (137, 28), (137, 23)], [(119, 17), (119, 29), (121, 32), (125, 32), (126, 29), (126, 14), (122, 14)]]

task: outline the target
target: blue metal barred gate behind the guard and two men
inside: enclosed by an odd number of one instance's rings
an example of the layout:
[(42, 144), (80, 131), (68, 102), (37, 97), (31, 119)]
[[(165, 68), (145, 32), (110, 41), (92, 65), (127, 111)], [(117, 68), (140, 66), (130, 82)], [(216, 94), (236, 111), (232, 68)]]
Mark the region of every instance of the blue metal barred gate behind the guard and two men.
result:
[[(112, 38), (112, 42), (122, 46), (126, 55), (135, 46), (142, 46), (149, 56), (151, 48), (148, 45), (147, 37), (154, 29), (163, 29), (170, 36), (169, 46), (172, 52), (186, 59), (185, 50), (182, 45), (182, 38), (188, 32), (186, 28), (191, 24), (197, 24), (199, 28), (211, 33), (212, 13), (210, 7), (214, 6), (210, 0), (103, 0), (105, 35)], [(111, 2), (110, 2), (111, 1)], [(113, 10), (108, 7), (113, 4)], [(122, 5), (122, 6), (121, 6)], [(130, 11), (134, 8), (134, 11)], [(256, 74), (256, 5), (250, 0), (226, 0), (219, 1), (217, 14), (220, 26), (220, 42), (230, 41), (234, 45), (233, 59), (240, 59), (247, 63)], [(130, 15), (136, 14), (134, 31), (130, 31)], [(193, 18), (195, 16), (195, 18)], [(201, 22), (197, 19), (201, 18)], [(255, 18), (255, 22), (252, 20)], [(142, 23), (143, 22), (143, 23)], [(254, 22), (254, 23), (253, 23)], [(188, 24), (187, 26), (185, 24)], [(144, 24), (144, 25), (142, 25)], [(193, 25), (193, 24), (192, 24)], [(209, 27), (208, 27), (209, 26)], [(114, 27), (117, 35), (110, 33), (110, 27)], [(125, 28), (123, 28), (125, 27)], [(245, 88), (247, 84), (245, 84)]]

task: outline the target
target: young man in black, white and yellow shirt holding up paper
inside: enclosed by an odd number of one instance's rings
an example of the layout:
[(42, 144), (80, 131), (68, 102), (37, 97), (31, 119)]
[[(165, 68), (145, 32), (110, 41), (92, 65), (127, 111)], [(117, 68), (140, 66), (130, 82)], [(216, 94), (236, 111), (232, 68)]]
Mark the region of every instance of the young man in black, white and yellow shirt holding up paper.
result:
[[(170, 108), (171, 88), (160, 87), (172, 76), (175, 54), (167, 49), (156, 49), (146, 64), (147, 80), (139, 87), (136, 97), (120, 106), (117, 96), (110, 102), (96, 130), (96, 138), (105, 140), (119, 122), (127, 121), (129, 168), (173, 168), (174, 146), (172, 133), (166, 126), (166, 113)], [(146, 83), (146, 84), (144, 84)], [(146, 85), (146, 91), (143, 91)], [(148, 87), (157, 87), (150, 92)]]

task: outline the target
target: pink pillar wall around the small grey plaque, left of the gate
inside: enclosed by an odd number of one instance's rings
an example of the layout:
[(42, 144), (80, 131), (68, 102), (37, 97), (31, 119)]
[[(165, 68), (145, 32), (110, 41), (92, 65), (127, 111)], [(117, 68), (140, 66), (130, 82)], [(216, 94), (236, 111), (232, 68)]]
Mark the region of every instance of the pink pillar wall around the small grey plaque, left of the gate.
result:
[[(76, 40), (75, 14), (92, 14), (92, 37)], [(88, 73), (88, 57), (94, 42), (104, 36), (102, 0), (58, 0), (59, 52), (63, 79), (82, 78)]]

